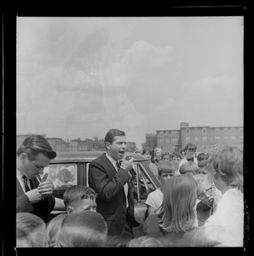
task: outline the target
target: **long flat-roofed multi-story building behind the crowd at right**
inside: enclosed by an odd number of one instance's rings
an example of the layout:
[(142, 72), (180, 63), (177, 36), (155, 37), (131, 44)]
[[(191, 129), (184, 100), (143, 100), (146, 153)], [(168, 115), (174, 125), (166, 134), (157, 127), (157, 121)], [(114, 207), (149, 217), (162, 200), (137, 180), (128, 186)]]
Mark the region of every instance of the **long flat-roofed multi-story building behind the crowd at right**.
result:
[(180, 151), (187, 143), (196, 144), (198, 152), (211, 152), (215, 145), (222, 144), (243, 148), (243, 126), (188, 126), (188, 123), (181, 123), (179, 130), (156, 132), (158, 147), (167, 153)]

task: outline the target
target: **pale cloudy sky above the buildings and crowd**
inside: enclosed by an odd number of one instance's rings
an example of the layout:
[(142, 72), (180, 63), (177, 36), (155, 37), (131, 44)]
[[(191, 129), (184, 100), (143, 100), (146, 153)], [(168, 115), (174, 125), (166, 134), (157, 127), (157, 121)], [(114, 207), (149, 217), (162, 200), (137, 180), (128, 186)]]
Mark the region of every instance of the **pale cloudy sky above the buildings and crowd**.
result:
[(16, 131), (243, 125), (243, 16), (17, 17)]

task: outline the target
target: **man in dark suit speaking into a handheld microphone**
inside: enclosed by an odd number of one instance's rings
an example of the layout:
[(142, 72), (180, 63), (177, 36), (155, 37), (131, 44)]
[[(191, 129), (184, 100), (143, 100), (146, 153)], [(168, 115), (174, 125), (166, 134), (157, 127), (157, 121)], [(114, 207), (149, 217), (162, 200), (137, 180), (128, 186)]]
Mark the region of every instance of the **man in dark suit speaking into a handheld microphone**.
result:
[(97, 212), (107, 223), (106, 246), (125, 247), (134, 237), (132, 227), (139, 225), (134, 218), (134, 197), (129, 184), (133, 158), (126, 160), (124, 131), (109, 130), (104, 142), (107, 153), (89, 164), (89, 187), (98, 194)]

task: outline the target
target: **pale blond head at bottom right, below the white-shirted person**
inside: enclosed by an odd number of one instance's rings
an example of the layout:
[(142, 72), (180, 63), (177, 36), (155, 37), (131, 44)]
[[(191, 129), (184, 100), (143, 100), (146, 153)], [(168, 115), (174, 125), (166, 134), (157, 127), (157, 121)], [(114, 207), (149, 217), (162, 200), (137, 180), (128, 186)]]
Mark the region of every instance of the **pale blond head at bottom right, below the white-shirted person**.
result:
[(193, 236), (191, 247), (241, 247), (234, 234), (222, 225), (204, 225)]

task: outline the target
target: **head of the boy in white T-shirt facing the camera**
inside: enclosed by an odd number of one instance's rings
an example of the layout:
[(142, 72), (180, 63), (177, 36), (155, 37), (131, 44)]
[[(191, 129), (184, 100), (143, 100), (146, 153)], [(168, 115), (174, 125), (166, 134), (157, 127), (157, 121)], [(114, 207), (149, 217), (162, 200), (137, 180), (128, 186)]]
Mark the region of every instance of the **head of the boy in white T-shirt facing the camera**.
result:
[(162, 160), (158, 164), (158, 177), (163, 187), (166, 180), (174, 176), (176, 172), (176, 165), (170, 160)]

